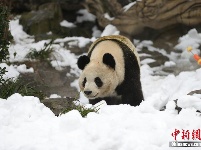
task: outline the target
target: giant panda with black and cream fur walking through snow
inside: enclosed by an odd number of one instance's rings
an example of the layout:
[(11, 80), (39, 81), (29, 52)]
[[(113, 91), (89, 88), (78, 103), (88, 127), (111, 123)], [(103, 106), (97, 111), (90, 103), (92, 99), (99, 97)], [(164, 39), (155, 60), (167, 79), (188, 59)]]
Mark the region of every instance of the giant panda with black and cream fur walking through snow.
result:
[(140, 60), (131, 41), (120, 35), (104, 36), (78, 58), (79, 86), (90, 104), (139, 105), (143, 98)]

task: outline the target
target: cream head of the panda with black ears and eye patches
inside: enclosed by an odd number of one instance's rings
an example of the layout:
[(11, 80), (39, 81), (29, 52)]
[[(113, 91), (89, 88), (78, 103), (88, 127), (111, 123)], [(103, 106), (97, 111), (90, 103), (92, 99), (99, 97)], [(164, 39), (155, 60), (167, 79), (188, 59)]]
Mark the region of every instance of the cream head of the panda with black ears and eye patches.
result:
[(105, 53), (100, 61), (90, 60), (86, 55), (79, 57), (78, 67), (83, 70), (79, 86), (89, 99), (111, 96), (118, 85), (114, 57)]

